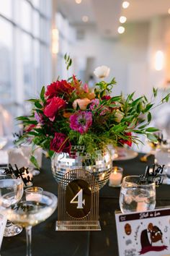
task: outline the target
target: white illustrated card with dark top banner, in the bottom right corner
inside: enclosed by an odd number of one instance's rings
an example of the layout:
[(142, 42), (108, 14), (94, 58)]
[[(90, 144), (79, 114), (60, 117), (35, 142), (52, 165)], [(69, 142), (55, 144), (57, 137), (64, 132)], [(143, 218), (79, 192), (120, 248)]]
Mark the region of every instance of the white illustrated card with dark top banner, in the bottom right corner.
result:
[(141, 213), (115, 212), (120, 256), (170, 254), (170, 207)]

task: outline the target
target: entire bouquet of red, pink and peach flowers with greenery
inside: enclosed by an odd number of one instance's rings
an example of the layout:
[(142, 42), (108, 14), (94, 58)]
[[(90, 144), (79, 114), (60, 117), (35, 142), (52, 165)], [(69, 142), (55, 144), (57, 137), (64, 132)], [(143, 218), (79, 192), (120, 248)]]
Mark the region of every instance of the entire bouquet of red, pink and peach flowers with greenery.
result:
[[(65, 56), (67, 69), (71, 65), (70, 56)], [(102, 66), (94, 74), (99, 82), (94, 90), (89, 89), (75, 75), (68, 80), (56, 80), (45, 88), (42, 87), (39, 98), (32, 98), (32, 114), (19, 116), (24, 125), (24, 133), (17, 143), (32, 140), (48, 151), (54, 153), (71, 153), (72, 145), (83, 145), (86, 153), (94, 154), (107, 145), (129, 145), (138, 143), (138, 135), (146, 135), (156, 141), (153, 132), (158, 129), (148, 127), (151, 121), (151, 109), (154, 104), (145, 95), (134, 99), (131, 93), (114, 95), (115, 78), (105, 82), (109, 68)], [(113, 92), (113, 96), (110, 93)], [(153, 96), (157, 90), (153, 88)], [(166, 95), (161, 103), (169, 101)], [(36, 163), (34, 156), (31, 161)]]

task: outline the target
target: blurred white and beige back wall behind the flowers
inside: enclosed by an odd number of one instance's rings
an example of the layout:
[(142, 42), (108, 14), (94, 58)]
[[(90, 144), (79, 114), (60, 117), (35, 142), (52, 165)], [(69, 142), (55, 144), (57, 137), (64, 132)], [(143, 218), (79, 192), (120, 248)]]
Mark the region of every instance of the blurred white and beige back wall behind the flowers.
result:
[[(73, 58), (94, 58), (93, 69), (103, 64), (109, 66), (109, 79), (113, 76), (117, 80), (113, 94), (136, 91), (136, 95), (151, 95), (153, 86), (162, 85), (167, 76), (165, 70), (154, 70), (153, 61), (155, 51), (164, 51), (170, 41), (169, 21), (169, 17), (161, 17), (128, 23), (125, 33), (115, 39), (102, 38), (94, 26), (76, 27), (84, 30), (84, 40), (76, 40), (71, 50)], [(75, 73), (79, 74), (79, 65), (75, 65)]]

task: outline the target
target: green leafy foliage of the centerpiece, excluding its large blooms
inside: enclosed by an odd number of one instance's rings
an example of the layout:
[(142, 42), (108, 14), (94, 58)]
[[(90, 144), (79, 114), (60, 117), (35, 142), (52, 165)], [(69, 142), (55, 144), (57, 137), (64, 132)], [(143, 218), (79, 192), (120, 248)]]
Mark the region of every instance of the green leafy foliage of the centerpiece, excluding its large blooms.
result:
[[(72, 59), (65, 54), (66, 69), (71, 67)], [(58, 77), (59, 80), (59, 77)], [(149, 101), (145, 95), (135, 98), (135, 92), (127, 97), (124, 95), (115, 95), (112, 98), (106, 98), (116, 85), (115, 77), (111, 82), (97, 82), (94, 93), (89, 89), (85, 90), (84, 85), (76, 77), (69, 77), (67, 80), (66, 92), (61, 88), (59, 98), (66, 102), (65, 108), (58, 108), (53, 121), (45, 116), (44, 109), (48, 104), (48, 98), (45, 96), (45, 86), (42, 87), (40, 98), (31, 98), (32, 113), (30, 116), (19, 116), (17, 120), (23, 125), (24, 133), (16, 145), (28, 139), (32, 140), (32, 145), (40, 146), (48, 152), (50, 157), (54, 151), (50, 150), (50, 142), (55, 137), (55, 133), (66, 135), (71, 145), (84, 145), (87, 153), (94, 154), (96, 150), (104, 148), (108, 144), (123, 145), (124, 142), (134, 142), (138, 144), (139, 135), (145, 135), (149, 140), (156, 142), (156, 136), (153, 134), (158, 129), (148, 127), (151, 122), (151, 111), (156, 106)], [(69, 92), (69, 88), (73, 89)], [(153, 98), (156, 98), (158, 89), (153, 88)], [(170, 93), (162, 98), (161, 103), (169, 101)], [(73, 108), (75, 100), (89, 99), (90, 103), (83, 111), (90, 112), (92, 115), (92, 124), (87, 132), (81, 134), (70, 127), (69, 116), (82, 111), (81, 106), (77, 104)], [(96, 100), (97, 106), (91, 109), (91, 100)], [(35, 113), (40, 116), (40, 121), (35, 119)], [(32, 155), (32, 163), (37, 167), (36, 158)]]

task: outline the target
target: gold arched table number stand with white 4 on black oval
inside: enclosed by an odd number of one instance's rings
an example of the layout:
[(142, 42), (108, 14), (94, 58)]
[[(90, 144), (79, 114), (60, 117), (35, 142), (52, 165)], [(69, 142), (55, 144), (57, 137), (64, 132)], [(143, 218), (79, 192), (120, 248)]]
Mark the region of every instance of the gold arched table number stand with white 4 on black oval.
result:
[(58, 221), (55, 230), (101, 230), (99, 185), (89, 171), (68, 171), (58, 184)]

